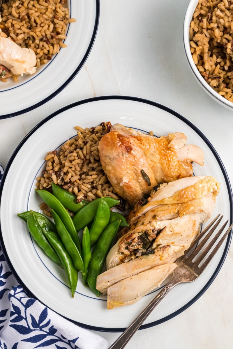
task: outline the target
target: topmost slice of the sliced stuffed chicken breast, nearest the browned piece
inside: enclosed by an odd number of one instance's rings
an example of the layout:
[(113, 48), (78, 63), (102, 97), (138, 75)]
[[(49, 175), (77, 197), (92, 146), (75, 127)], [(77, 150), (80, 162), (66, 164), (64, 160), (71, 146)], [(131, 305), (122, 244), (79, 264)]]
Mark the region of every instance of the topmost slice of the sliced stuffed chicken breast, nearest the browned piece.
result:
[(145, 215), (158, 205), (185, 203), (190, 200), (203, 198), (210, 193), (213, 193), (214, 199), (214, 196), (218, 195), (219, 189), (220, 183), (212, 176), (193, 176), (161, 184), (157, 190), (151, 192), (148, 199), (145, 201), (140, 200), (134, 206), (129, 214), (128, 222), (132, 224), (140, 216)]

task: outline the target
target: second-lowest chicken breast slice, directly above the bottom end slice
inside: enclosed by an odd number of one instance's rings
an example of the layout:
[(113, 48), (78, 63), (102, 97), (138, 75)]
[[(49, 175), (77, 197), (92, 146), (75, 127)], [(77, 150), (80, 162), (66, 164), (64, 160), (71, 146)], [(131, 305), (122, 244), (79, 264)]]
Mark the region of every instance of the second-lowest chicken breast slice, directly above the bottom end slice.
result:
[(115, 283), (155, 266), (173, 263), (183, 253), (184, 248), (181, 246), (166, 245), (158, 247), (154, 254), (143, 255), (127, 263), (119, 264), (97, 276), (96, 289), (106, 295), (108, 287)]

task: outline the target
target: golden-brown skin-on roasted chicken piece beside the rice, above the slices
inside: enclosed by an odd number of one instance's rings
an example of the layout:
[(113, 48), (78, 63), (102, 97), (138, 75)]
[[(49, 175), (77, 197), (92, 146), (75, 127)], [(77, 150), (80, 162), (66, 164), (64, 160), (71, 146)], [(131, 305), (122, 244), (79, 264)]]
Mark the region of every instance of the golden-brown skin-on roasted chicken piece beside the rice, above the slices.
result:
[(193, 162), (204, 165), (203, 151), (186, 142), (180, 132), (157, 138), (115, 124), (100, 140), (100, 161), (116, 193), (134, 205), (158, 183), (192, 176)]

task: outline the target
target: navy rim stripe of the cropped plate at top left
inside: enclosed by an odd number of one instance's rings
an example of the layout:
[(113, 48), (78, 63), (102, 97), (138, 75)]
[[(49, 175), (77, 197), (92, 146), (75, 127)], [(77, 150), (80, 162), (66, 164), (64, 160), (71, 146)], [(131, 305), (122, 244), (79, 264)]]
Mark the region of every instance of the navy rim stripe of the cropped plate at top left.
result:
[(19, 110), (17, 112), (5, 114), (5, 115), (0, 115), (0, 119), (12, 118), (14, 116), (24, 114), (24, 113), (27, 113), (28, 111), (36, 109), (37, 107), (41, 106), (42, 104), (50, 101), (50, 99), (55, 97), (59, 92), (61, 92), (74, 79), (74, 77), (78, 74), (79, 70), (82, 68), (83, 64), (86, 62), (86, 60), (90, 54), (90, 51), (92, 49), (92, 46), (95, 42), (97, 29), (98, 29), (98, 25), (99, 25), (99, 19), (100, 19), (100, 0), (95, 0), (95, 1), (96, 1), (96, 14), (95, 14), (95, 24), (94, 24), (92, 38), (90, 40), (90, 43), (88, 45), (87, 51), (86, 51), (83, 59), (81, 60), (78, 67), (74, 70), (73, 74), (71, 74), (71, 76), (66, 80), (66, 82), (64, 82), (63, 85), (61, 85), (56, 91), (54, 91), (50, 96), (44, 98), (42, 101), (40, 101), (34, 105), (31, 105), (25, 109)]

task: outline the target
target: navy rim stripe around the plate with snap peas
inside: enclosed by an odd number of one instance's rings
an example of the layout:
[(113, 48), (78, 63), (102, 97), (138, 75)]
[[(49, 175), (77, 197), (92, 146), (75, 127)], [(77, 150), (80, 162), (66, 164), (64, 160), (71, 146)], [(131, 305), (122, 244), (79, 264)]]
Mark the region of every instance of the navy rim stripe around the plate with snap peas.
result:
[[(226, 186), (227, 186), (227, 191), (228, 191), (228, 195), (229, 195), (229, 201), (230, 201), (230, 224), (232, 223), (232, 207), (233, 207), (233, 196), (232, 196), (232, 189), (231, 189), (231, 184), (228, 178), (228, 175), (226, 173), (225, 167), (218, 155), (218, 153), (216, 152), (216, 150), (214, 149), (214, 147), (212, 146), (212, 144), (209, 142), (209, 140), (205, 137), (205, 135), (196, 127), (194, 126), (189, 120), (185, 119), (183, 116), (181, 116), (179, 113), (176, 113), (175, 111), (173, 111), (172, 109), (169, 109), (166, 106), (163, 106), (161, 104), (158, 104), (156, 102), (152, 102), (152, 101), (148, 101), (147, 99), (142, 99), (142, 98), (138, 98), (138, 97), (129, 97), (129, 96), (102, 96), (102, 97), (94, 97), (94, 98), (88, 98), (88, 99), (84, 99), (82, 101), (79, 102), (75, 102), (72, 103), (70, 105), (67, 105), (59, 110), (57, 110), (56, 112), (52, 113), (50, 116), (46, 117), (44, 120), (42, 120), (41, 122), (39, 122), (38, 125), (36, 125), (26, 136), (25, 138), (21, 141), (21, 143), (19, 144), (19, 146), (15, 149), (13, 155), (10, 157), (9, 162), (6, 166), (5, 172), (3, 174), (2, 177), (2, 181), (1, 181), (1, 185), (0, 185), (0, 199), (1, 199), (1, 195), (2, 195), (2, 187), (4, 185), (5, 182), (5, 178), (7, 176), (7, 173), (9, 171), (10, 165), (12, 164), (16, 154), (19, 152), (20, 148), (22, 147), (22, 145), (27, 141), (27, 139), (39, 128), (41, 127), (43, 124), (46, 123), (46, 121), (52, 119), (53, 117), (55, 117), (56, 115), (62, 113), (65, 110), (71, 109), (72, 107), (81, 105), (81, 104), (85, 104), (85, 103), (89, 103), (89, 102), (94, 102), (94, 101), (103, 101), (106, 99), (120, 99), (120, 100), (129, 100), (129, 101), (134, 101), (134, 102), (140, 102), (140, 103), (145, 103), (145, 104), (150, 104), (153, 105), (157, 108), (160, 108), (172, 115), (174, 115), (176, 118), (182, 120), (185, 124), (187, 124), (189, 127), (191, 127), (202, 139), (203, 141), (207, 144), (207, 146), (211, 149), (214, 157), (216, 158), (220, 169), (224, 175), (224, 179), (226, 181)], [(203, 289), (194, 297), (192, 298), (187, 304), (185, 304), (183, 307), (181, 307), (179, 310), (175, 311), (174, 313), (168, 315), (167, 317), (164, 317), (160, 320), (157, 321), (153, 321), (150, 322), (149, 324), (145, 324), (142, 325), (139, 329), (146, 329), (155, 325), (159, 325), (162, 322), (165, 322), (167, 320), (172, 319), (173, 317), (175, 317), (176, 315), (180, 314), (181, 312), (183, 312), (185, 309), (187, 309), (190, 305), (192, 305), (193, 303), (196, 302), (196, 300), (201, 297), (204, 292), (207, 290), (207, 288), (209, 288), (209, 286), (211, 285), (211, 283), (214, 281), (214, 279), (216, 278), (216, 276), (218, 275), (228, 252), (228, 249), (230, 247), (230, 243), (231, 243), (231, 238), (232, 238), (232, 231), (231, 233), (228, 235), (227, 240), (226, 240), (226, 246), (223, 252), (223, 255), (219, 261), (219, 264), (215, 270), (215, 272), (213, 273), (212, 277), (210, 278), (209, 281), (207, 281), (207, 283), (205, 284), (205, 286), (203, 287)], [(26, 285), (24, 285), (24, 283), (22, 282), (22, 280), (20, 279), (19, 275), (17, 275), (16, 271), (14, 270), (14, 267), (12, 266), (12, 263), (9, 260), (5, 245), (4, 245), (4, 241), (2, 238), (2, 232), (1, 232), (1, 225), (0, 225), (0, 243), (1, 243), (1, 247), (2, 247), (2, 251), (3, 254), (5, 256), (5, 259), (12, 271), (12, 273), (14, 274), (14, 276), (16, 277), (17, 281), (21, 284), (21, 286), (23, 287), (24, 291), (28, 294), (29, 297), (35, 298), (35, 295), (31, 293), (31, 291), (27, 288)], [(38, 299), (39, 300), (39, 299)], [(40, 301), (41, 302), (41, 301)], [(42, 303), (42, 302), (41, 302)], [(45, 305), (47, 306), (47, 305)], [(60, 315), (60, 314), (59, 314)], [(62, 315), (61, 315), (62, 316)], [(64, 316), (63, 316), (64, 317)], [(66, 317), (64, 317), (66, 318)], [(90, 326), (90, 325), (86, 325), (86, 324), (82, 324), (80, 322), (77, 321), (73, 321), (71, 319), (66, 318), (69, 321), (72, 321), (74, 324), (77, 324), (81, 327), (84, 328), (88, 328), (90, 330), (94, 330), (94, 331), (102, 331), (102, 332), (123, 332), (125, 330), (125, 328), (105, 328), (105, 327), (96, 327), (96, 326)]]

